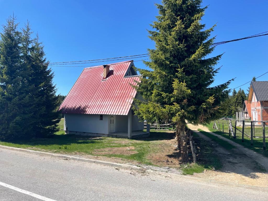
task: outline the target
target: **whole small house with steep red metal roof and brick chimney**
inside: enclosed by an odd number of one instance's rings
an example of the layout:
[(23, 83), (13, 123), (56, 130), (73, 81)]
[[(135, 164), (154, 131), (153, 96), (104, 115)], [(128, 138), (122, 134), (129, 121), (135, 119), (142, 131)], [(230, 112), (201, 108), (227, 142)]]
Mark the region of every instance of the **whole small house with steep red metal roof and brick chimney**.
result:
[[(144, 121), (133, 115), (133, 98), (139, 98), (132, 85), (140, 76), (133, 61), (85, 68), (62, 102), (67, 134), (136, 138)], [(139, 98), (140, 99), (140, 98)]]

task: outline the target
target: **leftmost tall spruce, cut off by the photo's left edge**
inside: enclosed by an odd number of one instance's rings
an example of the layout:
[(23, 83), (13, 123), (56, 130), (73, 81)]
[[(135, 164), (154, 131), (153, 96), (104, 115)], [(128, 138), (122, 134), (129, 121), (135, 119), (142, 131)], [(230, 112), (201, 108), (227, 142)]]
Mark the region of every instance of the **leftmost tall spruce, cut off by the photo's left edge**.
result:
[(14, 17), (3, 26), (0, 40), (0, 138), (13, 139), (31, 132), (29, 71), (22, 62), (22, 34)]

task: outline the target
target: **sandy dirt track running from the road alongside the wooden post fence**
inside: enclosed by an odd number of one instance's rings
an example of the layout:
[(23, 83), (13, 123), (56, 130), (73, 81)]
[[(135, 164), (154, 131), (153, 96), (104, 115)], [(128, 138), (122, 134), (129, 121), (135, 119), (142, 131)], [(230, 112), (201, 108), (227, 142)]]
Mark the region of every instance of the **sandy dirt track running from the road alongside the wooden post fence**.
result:
[[(239, 148), (233, 148), (230, 151), (226, 150), (209, 137), (197, 131), (197, 129), (202, 129), (203, 131), (210, 132), (204, 126), (188, 124), (188, 127), (204, 140), (213, 143), (212, 146), (217, 151), (217, 154), (219, 154), (223, 165), (221, 170), (207, 170), (204, 173), (195, 174), (195, 177), (226, 181), (234, 184), (268, 187), (268, 173), (255, 160), (245, 155)], [(210, 133), (212, 134), (212, 132)]]

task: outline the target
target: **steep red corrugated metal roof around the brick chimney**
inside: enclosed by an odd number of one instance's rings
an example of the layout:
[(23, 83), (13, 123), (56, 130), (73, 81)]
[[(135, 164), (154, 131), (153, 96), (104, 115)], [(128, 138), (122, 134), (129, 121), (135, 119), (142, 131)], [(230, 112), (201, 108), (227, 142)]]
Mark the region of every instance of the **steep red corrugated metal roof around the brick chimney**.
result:
[(110, 72), (103, 80), (103, 66), (85, 68), (59, 110), (72, 114), (127, 115), (136, 90), (139, 76), (124, 77), (132, 61), (110, 65)]

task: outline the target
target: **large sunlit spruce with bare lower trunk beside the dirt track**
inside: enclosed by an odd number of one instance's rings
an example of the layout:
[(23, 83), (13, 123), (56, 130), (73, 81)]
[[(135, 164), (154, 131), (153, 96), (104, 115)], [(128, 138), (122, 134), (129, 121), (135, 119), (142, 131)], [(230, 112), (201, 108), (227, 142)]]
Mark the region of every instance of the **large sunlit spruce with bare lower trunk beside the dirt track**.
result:
[(229, 94), (230, 81), (211, 86), (222, 55), (209, 58), (214, 50), (209, 38), (213, 28), (201, 23), (207, 7), (201, 0), (163, 0), (157, 4), (159, 16), (149, 32), (155, 49), (149, 49), (152, 70), (143, 75), (137, 91), (144, 101), (135, 100), (133, 110), (148, 122), (169, 120), (176, 123), (176, 136), (182, 162), (188, 161), (186, 121), (207, 124), (221, 116), (220, 103)]

